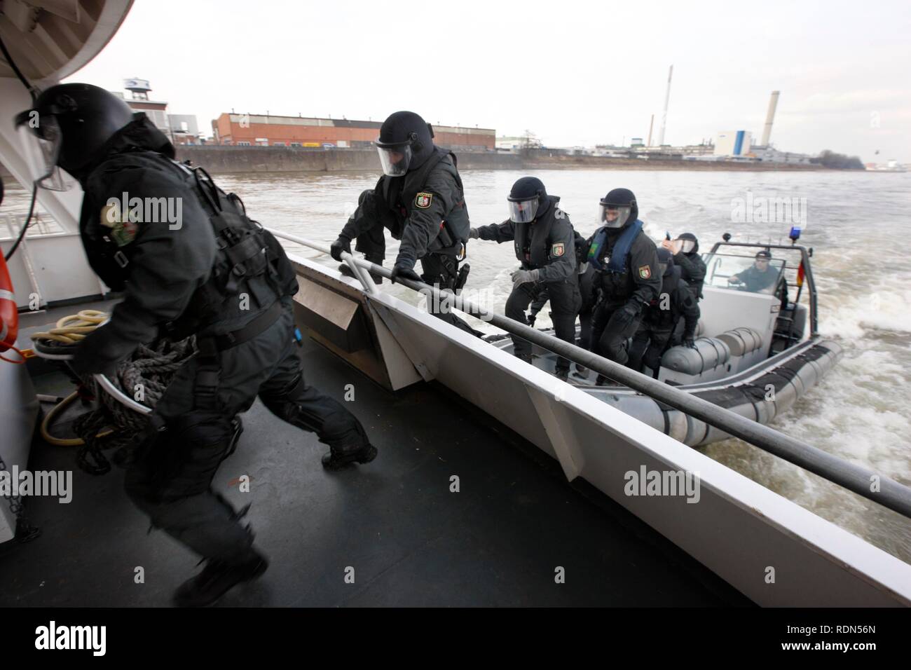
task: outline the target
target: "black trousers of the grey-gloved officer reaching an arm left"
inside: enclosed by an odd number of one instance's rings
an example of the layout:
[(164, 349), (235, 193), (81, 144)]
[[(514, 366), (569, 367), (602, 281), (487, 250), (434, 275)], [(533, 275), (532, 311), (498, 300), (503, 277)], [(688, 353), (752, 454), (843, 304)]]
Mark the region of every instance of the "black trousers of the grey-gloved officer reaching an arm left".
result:
[[(513, 287), (507, 298), (506, 313), (510, 319), (520, 324), (528, 324), (525, 311), (539, 294), (547, 291), (550, 298), (550, 317), (554, 324), (555, 334), (564, 342), (576, 344), (576, 315), (582, 299), (578, 293), (577, 275), (562, 282), (520, 283)], [(511, 335), (513, 351), (516, 356), (531, 354), (531, 343), (521, 337)], [(557, 359), (558, 370), (568, 370), (569, 361), (560, 356)]]

